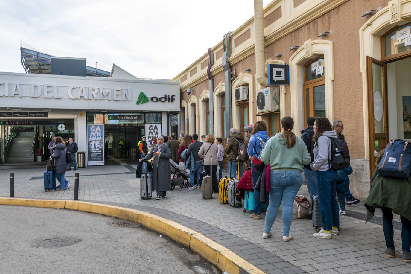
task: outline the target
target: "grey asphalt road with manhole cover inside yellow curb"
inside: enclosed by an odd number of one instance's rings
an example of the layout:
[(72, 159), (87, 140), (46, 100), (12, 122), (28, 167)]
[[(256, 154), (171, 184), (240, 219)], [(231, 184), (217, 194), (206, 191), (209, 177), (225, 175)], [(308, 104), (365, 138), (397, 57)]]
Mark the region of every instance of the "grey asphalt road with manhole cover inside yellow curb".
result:
[(1, 205), (0, 243), (2, 273), (221, 273), (141, 225), (72, 210)]

